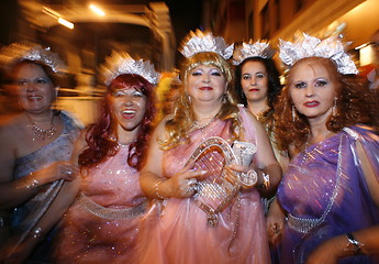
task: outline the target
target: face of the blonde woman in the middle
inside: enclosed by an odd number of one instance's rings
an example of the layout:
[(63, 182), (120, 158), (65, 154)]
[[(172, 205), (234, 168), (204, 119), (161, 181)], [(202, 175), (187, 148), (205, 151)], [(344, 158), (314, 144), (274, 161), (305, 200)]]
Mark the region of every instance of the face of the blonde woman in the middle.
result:
[(226, 78), (220, 68), (200, 65), (188, 77), (188, 94), (194, 102), (222, 102), (226, 92)]

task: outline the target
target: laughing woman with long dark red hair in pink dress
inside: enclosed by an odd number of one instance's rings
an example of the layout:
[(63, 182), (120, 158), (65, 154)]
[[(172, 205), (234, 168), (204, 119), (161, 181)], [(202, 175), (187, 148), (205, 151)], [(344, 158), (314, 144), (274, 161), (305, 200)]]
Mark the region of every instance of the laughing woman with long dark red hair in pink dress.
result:
[(56, 263), (135, 263), (147, 201), (140, 168), (154, 120), (158, 74), (148, 62), (114, 53), (99, 121), (79, 139), (80, 194), (67, 211)]

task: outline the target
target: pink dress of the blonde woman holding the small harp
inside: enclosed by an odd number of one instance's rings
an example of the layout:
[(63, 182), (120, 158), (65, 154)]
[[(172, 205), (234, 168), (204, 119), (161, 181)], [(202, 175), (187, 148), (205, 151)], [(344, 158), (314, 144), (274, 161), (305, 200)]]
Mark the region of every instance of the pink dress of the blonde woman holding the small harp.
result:
[[(242, 117), (245, 116), (242, 110)], [(245, 124), (245, 141), (256, 143), (253, 124)], [(228, 123), (215, 120), (190, 134), (191, 143), (166, 151), (164, 176), (171, 177), (185, 166), (200, 142), (220, 136), (230, 142)], [(142, 224), (141, 263), (169, 264), (243, 264), (269, 263), (269, 251), (260, 196), (255, 189), (242, 190), (218, 215), (215, 227), (193, 198), (170, 198), (156, 202)]]

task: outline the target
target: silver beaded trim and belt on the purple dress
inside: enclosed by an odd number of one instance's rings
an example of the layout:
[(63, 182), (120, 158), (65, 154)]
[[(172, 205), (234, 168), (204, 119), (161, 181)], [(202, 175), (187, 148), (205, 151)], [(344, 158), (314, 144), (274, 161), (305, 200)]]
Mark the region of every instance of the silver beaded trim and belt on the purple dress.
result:
[(339, 185), (341, 185), (341, 179), (342, 179), (342, 138), (339, 140), (339, 145), (338, 145), (338, 164), (337, 164), (337, 180), (336, 180), (336, 185), (335, 188), (333, 190), (332, 197), (326, 206), (325, 211), (323, 212), (323, 215), (321, 216), (321, 218), (299, 218), (299, 217), (294, 217), (291, 213), (288, 215), (288, 226), (300, 232), (300, 233), (308, 233), (311, 229), (317, 227), (319, 224), (321, 224), (323, 221), (325, 221), (326, 216), (330, 213), (333, 205), (334, 205), (334, 200), (338, 195), (338, 189), (339, 189)]

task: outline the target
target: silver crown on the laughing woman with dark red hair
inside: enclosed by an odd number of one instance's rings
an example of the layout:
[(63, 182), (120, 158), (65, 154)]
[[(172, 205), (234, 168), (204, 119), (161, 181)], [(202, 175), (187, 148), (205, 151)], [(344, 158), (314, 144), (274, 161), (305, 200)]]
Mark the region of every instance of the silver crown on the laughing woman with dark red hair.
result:
[(107, 57), (102, 70), (107, 86), (122, 74), (140, 75), (153, 85), (158, 84), (159, 80), (159, 74), (155, 72), (154, 65), (148, 61), (135, 61), (127, 53), (118, 53), (115, 51), (112, 52), (111, 56)]

